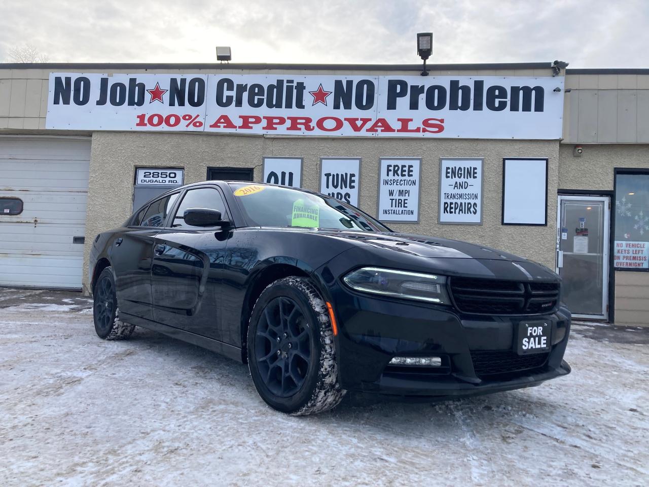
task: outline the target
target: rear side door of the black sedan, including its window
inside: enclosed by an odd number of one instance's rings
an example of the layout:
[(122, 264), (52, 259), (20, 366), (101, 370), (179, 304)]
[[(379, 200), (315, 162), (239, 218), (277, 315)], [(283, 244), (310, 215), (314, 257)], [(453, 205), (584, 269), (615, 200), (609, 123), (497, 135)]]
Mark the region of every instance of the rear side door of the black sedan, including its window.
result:
[(109, 258), (115, 271), (117, 303), (121, 313), (153, 319), (153, 242), (178, 195), (179, 193), (167, 195), (145, 206), (129, 222), (126, 231), (114, 236)]

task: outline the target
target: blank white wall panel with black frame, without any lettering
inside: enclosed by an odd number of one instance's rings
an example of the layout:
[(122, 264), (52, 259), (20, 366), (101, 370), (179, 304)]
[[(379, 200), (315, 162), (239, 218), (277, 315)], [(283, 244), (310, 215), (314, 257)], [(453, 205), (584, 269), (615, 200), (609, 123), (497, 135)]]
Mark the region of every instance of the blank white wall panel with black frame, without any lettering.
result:
[(546, 225), (546, 159), (506, 159), (502, 223)]

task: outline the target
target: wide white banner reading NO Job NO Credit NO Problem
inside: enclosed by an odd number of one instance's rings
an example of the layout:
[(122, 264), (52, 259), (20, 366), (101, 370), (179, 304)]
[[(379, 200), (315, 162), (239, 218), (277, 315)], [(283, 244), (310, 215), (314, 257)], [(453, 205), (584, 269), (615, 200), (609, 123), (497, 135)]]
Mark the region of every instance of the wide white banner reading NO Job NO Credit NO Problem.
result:
[(561, 137), (563, 77), (51, 73), (47, 129)]

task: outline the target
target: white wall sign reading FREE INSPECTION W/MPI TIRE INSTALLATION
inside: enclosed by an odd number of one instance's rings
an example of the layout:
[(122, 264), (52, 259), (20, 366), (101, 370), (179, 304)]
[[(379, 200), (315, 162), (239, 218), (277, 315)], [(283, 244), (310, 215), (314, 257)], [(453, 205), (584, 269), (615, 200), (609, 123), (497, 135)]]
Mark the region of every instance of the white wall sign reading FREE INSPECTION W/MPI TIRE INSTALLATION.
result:
[(378, 175), (380, 221), (419, 221), (420, 169), (421, 159), (381, 158)]

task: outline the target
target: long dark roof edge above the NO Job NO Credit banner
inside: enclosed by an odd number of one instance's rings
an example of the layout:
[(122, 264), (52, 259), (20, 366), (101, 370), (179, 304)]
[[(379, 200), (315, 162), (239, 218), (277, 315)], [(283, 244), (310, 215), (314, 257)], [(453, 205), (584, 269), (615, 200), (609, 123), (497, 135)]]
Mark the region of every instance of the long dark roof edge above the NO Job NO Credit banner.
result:
[[(427, 64), (429, 71), (477, 69), (550, 69), (552, 62), (487, 62), (463, 64)], [(0, 69), (282, 69), (282, 70), (354, 70), (421, 71), (421, 64), (272, 64), (272, 63), (138, 63), (138, 62), (12, 62), (0, 63)]]

